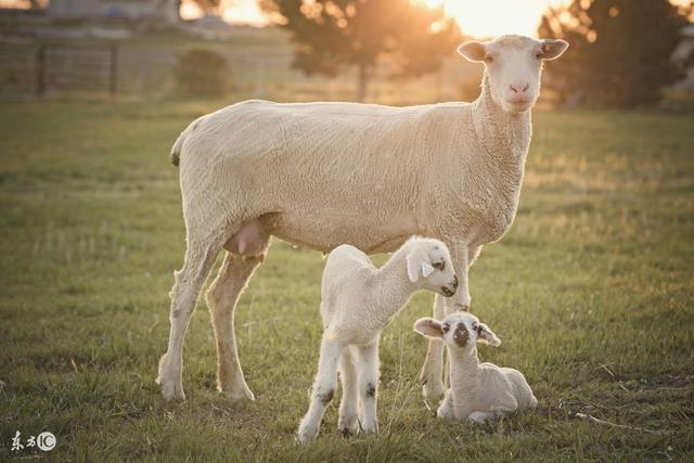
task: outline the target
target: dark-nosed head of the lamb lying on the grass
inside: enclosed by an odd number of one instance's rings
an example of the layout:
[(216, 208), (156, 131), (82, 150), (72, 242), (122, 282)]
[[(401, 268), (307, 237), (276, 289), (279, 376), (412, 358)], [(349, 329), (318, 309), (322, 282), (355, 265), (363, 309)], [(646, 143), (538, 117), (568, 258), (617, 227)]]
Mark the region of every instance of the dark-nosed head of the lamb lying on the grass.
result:
[(477, 317), (468, 312), (451, 313), (444, 320), (432, 318), (419, 319), (414, 322), (414, 331), (426, 337), (442, 339), (452, 348), (470, 348), (476, 343), (499, 346), (501, 340)]

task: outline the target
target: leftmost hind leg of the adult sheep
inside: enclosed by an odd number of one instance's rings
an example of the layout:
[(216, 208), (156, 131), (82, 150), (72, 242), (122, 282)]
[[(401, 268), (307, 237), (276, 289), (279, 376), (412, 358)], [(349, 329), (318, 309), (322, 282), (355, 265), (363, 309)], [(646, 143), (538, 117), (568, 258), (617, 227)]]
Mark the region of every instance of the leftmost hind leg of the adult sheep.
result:
[(162, 385), (162, 395), (165, 400), (185, 399), (181, 377), (185, 330), (195, 303), (197, 303), (200, 291), (220, 248), (221, 243), (214, 240), (195, 240), (189, 235), (183, 268), (175, 273), (176, 282), (170, 293), (169, 345), (166, 353), (159, 360), (159, 375), (156, 380)]

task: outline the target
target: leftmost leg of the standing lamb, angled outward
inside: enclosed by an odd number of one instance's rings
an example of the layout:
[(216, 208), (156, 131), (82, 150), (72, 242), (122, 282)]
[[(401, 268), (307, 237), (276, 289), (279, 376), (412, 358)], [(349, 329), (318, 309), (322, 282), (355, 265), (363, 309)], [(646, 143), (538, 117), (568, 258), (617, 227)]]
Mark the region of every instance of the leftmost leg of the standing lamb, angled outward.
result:
[(325, 409), (335, 394), (337, 362), (343, 345), (329, 339), (329, 333), (330, 331), (327, 330), (323, 333), (321, 342), (321, 355), (318, 361), (318, 374), (311, 393), (311, 404), (299, 424), (297, 438), (301, 443), (316, 438), (323, 414), (325, 414)]

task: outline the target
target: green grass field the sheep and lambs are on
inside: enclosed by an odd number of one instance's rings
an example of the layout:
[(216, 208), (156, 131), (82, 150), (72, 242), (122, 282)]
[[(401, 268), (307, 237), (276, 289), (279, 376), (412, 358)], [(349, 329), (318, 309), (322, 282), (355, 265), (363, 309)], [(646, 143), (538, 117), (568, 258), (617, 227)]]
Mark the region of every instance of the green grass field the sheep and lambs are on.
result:
[[(163, 403), (183, 227), (168, 151), (222, 103), (0, 103), (0, 460), (694, 460), (694, 116), (535, 115), (518, 216), (471, 272), (473, 311), (502, 338), (539, 410), (435, 420), (416, 382), (430, 312), (416, 295), (384, 332), (381, 434), (344, 440), (337, 403), (308, 407), (321, 256), (275, 241), (236, 312), (253, 403), (215, 389), (204, 301), (184, 350), (188, 400)], [(579, 420), (589, 413), (619, 428)], [(11, 451), (50, 430), (57, 447)]]

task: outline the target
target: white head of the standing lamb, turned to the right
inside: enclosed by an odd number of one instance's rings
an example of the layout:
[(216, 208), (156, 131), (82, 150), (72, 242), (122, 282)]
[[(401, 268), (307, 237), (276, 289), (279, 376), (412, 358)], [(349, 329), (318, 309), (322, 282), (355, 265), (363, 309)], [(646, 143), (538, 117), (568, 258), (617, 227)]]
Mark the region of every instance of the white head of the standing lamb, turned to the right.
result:
[(455, 294), (458, 276), (448, 247), (427, 237), (413, 237), (404, 246), (408, 276), (421, 290), (430, 290), (446, 297)]

